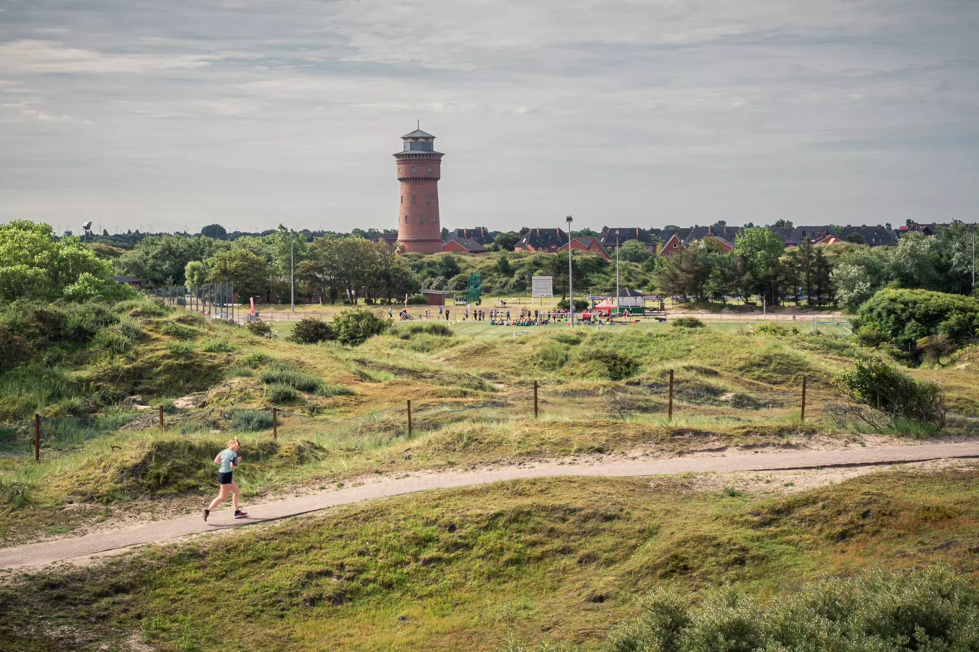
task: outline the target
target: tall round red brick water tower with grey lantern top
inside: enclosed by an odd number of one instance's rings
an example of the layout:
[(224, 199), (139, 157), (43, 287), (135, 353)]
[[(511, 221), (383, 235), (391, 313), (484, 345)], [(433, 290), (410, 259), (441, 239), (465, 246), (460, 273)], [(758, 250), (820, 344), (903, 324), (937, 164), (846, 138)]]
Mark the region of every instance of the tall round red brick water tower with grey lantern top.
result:
[(435, 136), (416, 129), (401, 136), (404, 149), (395, 154), (401, 196), (397, 204), (397, 241), (408, 252), (442, 251), (439, 219), (439, 179), (442, 152), (435, 151)]

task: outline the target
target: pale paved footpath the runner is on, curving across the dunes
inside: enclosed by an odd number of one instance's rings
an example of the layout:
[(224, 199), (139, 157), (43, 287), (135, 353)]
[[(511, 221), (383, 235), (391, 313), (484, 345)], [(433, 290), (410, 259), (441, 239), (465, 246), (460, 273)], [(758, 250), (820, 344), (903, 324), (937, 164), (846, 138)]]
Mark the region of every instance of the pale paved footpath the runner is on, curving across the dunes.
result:
[(432, 489), (466, 487), (500, 480), (585, 475), (630, 477), (683, 473), (686, 471), (774, 471), (815, 468), (816, 466), (856, 466), (924, 461), (943, 457), (979, 457), (979, 442), (955, 444), (921, 444), (917, 446), (884, 446), (840, 451), (779, 451), (712, 457), (674, 457), (654, 461), (619, 462), (576, 466), (507, 467), (495, 471), (429, 475), (417, 478), (382, 481), (340, 491), (310, 494), (248, 507), (249, 517), (235, 520), (230, 509), (215, 511), (205, 523), (200, 514), (172, 521), (156, 521), (125, 530), (98, 532), (74, 539), (31, 543), (0, 549), (0, 569), (40, 566), (62, 559), (95, 554), (106, 550), (162, 542), (175, 537), (240, 527), (254, 523), (297, 516), (311, 511)]

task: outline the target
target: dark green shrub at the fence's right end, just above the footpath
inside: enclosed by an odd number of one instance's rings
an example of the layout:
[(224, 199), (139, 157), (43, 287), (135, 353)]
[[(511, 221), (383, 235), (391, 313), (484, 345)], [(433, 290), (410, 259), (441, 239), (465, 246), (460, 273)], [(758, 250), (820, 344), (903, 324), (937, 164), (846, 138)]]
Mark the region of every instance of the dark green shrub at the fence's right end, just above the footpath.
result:
[(876, 358), (858, 359), (831, 385), (854, 403), (920, 423), (945, 425), (945, 394), (929, 380), (915, 380)]

